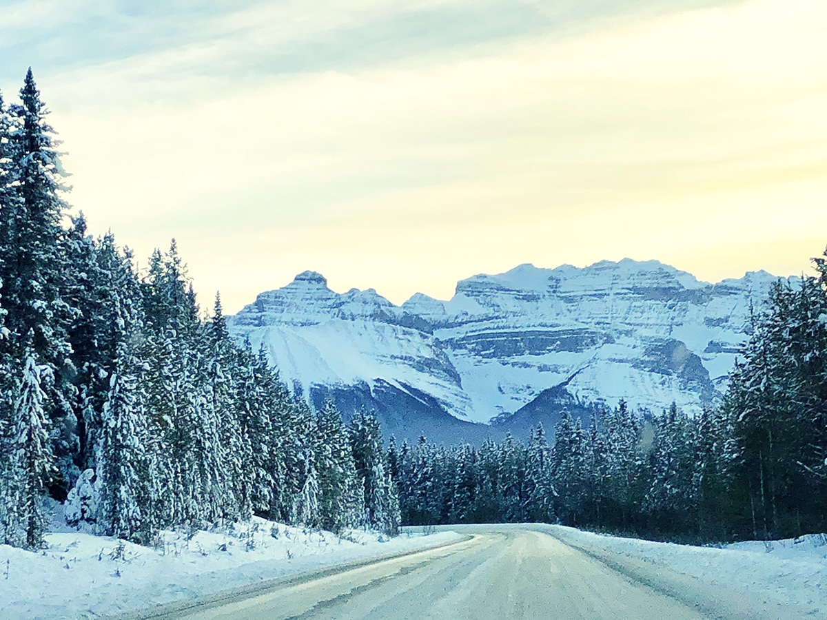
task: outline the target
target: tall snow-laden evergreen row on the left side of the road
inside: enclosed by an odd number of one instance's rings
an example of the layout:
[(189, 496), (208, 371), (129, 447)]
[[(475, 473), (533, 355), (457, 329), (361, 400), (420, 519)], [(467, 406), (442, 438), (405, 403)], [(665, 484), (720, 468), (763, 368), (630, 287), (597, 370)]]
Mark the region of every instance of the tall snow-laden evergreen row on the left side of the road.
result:
[(111, 234), (63, 224), (59, 142), (29, 69), (0, 96), (0, 543), (43, 544), (43, 498), (70, 522), (149, 543), (252, 514), (395, 533), (379, 426), (314, 412), (220, 298), (201, 316), (174, 241), (145, 273)]

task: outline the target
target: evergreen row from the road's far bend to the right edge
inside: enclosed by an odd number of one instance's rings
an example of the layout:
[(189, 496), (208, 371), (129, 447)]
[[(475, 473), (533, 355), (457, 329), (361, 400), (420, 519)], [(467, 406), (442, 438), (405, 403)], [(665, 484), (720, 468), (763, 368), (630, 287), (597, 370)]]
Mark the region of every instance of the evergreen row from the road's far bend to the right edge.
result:
[[(827, 252), (825, 252), (827, 257)], [(796, 537), (827, 529), (827, 258), (779, 281), (718, 408), (656, 416), (626, 403), (552, 441), (390, 446), (405, 524), (560, 522), (685, 541)]]

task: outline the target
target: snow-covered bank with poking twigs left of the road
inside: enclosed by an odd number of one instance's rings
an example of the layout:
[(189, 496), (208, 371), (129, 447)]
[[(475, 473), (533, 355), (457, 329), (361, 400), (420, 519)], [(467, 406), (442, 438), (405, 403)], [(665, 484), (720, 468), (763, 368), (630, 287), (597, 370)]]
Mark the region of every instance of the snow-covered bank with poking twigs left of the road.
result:
[(98, 618), (460, 540), (454, 532), (330, 532), (254, 517), (230, 532), (163, 532), (157, 549), (82, 532), (36, 553), (0, 546), (0, 618)]

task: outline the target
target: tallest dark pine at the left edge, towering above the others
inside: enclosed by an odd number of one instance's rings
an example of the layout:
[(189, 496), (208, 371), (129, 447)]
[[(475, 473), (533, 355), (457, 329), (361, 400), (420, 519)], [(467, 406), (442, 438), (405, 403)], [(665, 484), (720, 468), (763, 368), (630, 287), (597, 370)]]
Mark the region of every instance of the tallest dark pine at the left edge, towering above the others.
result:
[[(52, 379), (43, 385), (43, 407), (52, 425), (60, 472), (65, 474), (77, 453), (76, 421), (65, 393), (74, 372), (65, 331), (74, 309), (60, 297), (65, 270), (59, 251), (65, 208), (60, 177), (65, 173), (31, 69), (20, 97), (22, 103), (10, 108), (7, 136), (0, 136), (7, 141), (4, 176), (11, 179), (2, 192), (0, 218), (0, 295), (9, 330), (0, 341), (0, 352), (24, 360), (31, 349), (39, 364), (50, 367)], [(61, 484), (68, 487), (67, 480)]]

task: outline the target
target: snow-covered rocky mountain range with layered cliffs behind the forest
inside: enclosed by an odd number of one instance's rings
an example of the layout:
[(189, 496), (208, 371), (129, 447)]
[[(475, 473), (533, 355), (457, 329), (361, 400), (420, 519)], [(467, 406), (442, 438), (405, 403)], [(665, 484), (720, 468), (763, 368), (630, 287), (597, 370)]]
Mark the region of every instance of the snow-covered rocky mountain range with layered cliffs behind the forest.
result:
[(229, 325), (317, 406), (373, 410), (400, 441), (476, 443), (553, 424), (563, 407), (715, 403), (777, 280), (708, 284), (657, 261), (520, 265), (462, 280), (449, 301), (417, 293), (399, 307), (307, 271)]

